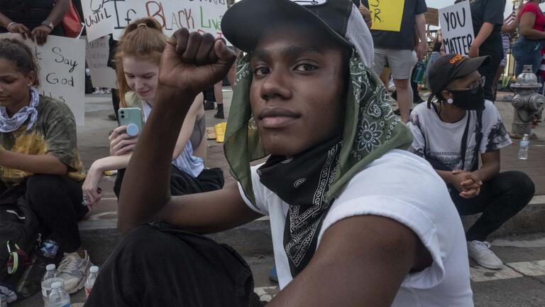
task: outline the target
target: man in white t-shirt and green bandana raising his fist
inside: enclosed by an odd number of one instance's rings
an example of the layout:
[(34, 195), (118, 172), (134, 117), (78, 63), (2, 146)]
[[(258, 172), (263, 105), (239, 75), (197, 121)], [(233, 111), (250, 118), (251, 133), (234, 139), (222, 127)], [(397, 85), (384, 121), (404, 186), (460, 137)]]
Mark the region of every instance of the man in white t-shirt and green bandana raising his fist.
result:
[(364, 65), (373, 43), (352, 1), (241, 0), (221, 27), (248, 53), (224, 148), (238, 183), (170, 195), (179, 119), (236, 58), (180, 29), (121, 187), (118, 227), (132, 231), (86, 306), (260, 306), (248, 265), (200, 234), (262, 215), (282, 289), (268, 306), (473, 306), (461, 221), (429, 163), (401, 150), (412, 135)]

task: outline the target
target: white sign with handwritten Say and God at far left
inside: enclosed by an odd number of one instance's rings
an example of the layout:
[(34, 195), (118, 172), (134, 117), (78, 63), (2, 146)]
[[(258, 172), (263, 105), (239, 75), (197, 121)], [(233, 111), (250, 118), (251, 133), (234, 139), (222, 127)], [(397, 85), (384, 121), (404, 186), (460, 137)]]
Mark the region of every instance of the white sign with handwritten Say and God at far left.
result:
[(65, 102), (74, 113), (76, 124), (83, 125), (85, 117), (85, 41), (61, 36), (48, 36), (44, 45), (36, 45), (19, 34), (0, 34), (2, 38), (24, 41), (40, 65), (40, 94)]

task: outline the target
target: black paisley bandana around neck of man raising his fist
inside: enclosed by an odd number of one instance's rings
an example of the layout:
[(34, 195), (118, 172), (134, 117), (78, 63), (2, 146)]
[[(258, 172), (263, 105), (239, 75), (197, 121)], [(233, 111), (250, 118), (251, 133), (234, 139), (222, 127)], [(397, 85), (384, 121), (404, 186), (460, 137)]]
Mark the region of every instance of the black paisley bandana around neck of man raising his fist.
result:
[(312, 259), (321, 224), (333, 203), (326, 193), (334, 182), (340, 140), (336, 137), (293, 158), (270, 156), (258, 168), (260, 182), (290, 205), (284, 249), (293, 277)]

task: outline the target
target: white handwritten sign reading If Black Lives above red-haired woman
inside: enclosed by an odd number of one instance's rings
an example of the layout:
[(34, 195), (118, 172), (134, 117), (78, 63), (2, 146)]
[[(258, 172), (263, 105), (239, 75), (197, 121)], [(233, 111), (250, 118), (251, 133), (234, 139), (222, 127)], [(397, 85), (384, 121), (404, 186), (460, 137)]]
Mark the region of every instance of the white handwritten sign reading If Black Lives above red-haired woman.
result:
[[(391, 0), (389, 0), (391, 1)], [(223, 37), (220, 21), (227, 10), (226, 0), (82, 0), (87, 41), (114, 33), (118, 39), (126, 26), (137, 18), (154, 17), (163, 33), (179, 28)]]

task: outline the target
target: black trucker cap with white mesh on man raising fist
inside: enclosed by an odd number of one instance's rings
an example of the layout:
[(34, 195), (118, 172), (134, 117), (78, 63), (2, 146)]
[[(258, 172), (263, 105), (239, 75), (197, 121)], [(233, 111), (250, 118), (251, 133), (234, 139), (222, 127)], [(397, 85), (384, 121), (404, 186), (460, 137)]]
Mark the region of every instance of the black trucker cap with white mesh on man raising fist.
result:
[[(283, 20), (316, 26), (345, 45), (351, 0), (241, 0), (221, 18), (221, 31), (236, 48), (251, 52), (263, 32)], [(290, 35), (290, 33), (286, 33)]]

